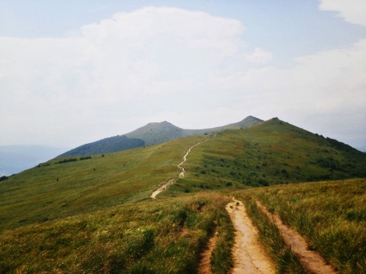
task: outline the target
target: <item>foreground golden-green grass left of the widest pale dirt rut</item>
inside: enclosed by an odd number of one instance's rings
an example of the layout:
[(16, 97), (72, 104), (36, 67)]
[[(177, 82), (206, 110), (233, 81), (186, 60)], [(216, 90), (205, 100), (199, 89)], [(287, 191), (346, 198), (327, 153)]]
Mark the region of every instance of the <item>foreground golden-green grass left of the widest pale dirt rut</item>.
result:
[(225, 204), (222, 195), (195, 195), (4, 230), (0, 273), (194, 273), (215, 223), (213, 263), (227, 273)]

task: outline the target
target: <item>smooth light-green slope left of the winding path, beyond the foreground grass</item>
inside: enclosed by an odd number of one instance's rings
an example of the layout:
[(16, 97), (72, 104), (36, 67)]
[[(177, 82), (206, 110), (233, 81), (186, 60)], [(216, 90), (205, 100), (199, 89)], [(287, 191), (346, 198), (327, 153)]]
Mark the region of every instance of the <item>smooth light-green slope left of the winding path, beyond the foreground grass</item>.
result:
[[(0, 183), (0, 230), (149, 199), (177, 177), (182, 155), (203, 137), (92, 155), (62, 164), (57, 158)], [(75, 158), (79, 159), (79, 158)]]

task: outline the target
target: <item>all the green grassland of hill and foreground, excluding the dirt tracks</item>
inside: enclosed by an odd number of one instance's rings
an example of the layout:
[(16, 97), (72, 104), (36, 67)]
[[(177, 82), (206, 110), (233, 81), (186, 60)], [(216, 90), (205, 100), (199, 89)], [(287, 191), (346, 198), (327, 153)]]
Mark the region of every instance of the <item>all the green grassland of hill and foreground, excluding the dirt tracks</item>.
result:
[[(188, 155), (185, 177), (151, 200), (177, 178), (188, 148), (206, 139)], [(255, 199), (341, 273), (362, 273), (366, 184), (356, 178), (365, 167), (365, 153), (279, 119), (52, 159), (0, 182), (0, 273), (196, 273), (215, 229), (213, 273), (229, 273), (234, 232), (225, 205), (233, 193), (278, 273), (303, 268)]]

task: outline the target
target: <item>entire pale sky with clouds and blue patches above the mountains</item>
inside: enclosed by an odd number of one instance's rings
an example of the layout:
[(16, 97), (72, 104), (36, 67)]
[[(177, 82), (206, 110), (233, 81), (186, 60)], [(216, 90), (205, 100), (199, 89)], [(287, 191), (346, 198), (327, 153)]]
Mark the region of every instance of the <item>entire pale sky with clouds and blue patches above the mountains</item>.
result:
[(364, 0), (0, 0), (0, 145), (279, 117), (366, 151)]

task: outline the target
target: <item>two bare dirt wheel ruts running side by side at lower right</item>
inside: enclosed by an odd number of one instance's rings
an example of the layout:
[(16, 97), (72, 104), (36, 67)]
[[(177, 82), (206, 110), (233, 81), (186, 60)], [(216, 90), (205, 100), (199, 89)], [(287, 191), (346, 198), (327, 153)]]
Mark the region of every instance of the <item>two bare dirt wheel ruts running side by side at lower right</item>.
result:
[[(244, 205), (233, 200), (234, 202), (230, 202), (226, 207), (236, 230), (233, 273), (275, 273), (272, 261), (258, 242), (258, 232), (246, 214)], [(257, 204), (279, 228), (284, 242), (298, 255), (306, 270), (315, 274), (336, 274), (334, 268), (327, 264), (319, 253), (308, 249), (308, 244), (299, 233), (284, 225), (277, 215), (271, 214), (260, 202), (257, 201)]]

